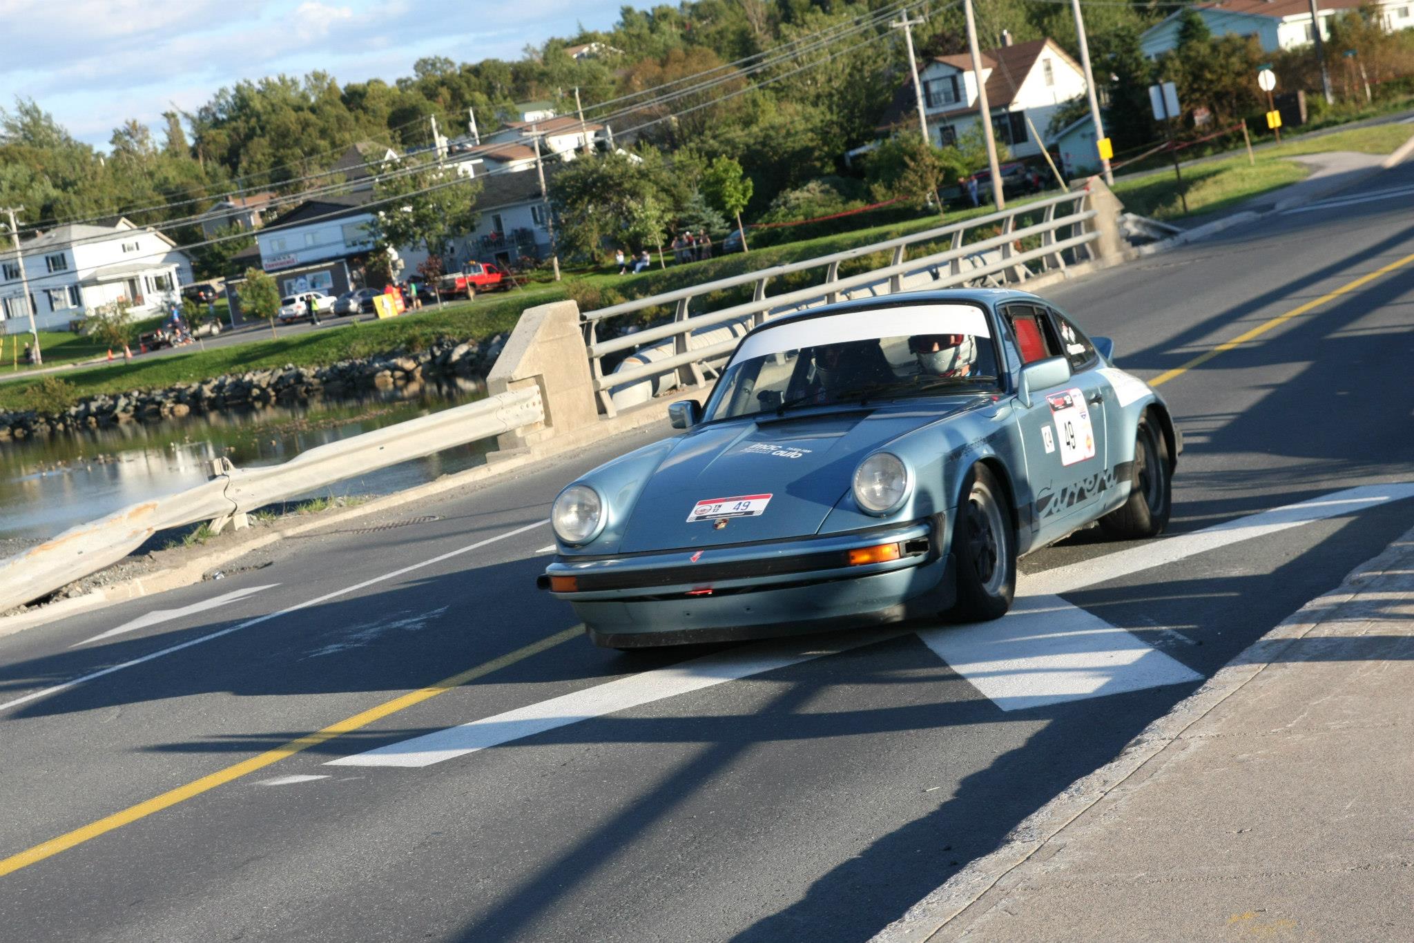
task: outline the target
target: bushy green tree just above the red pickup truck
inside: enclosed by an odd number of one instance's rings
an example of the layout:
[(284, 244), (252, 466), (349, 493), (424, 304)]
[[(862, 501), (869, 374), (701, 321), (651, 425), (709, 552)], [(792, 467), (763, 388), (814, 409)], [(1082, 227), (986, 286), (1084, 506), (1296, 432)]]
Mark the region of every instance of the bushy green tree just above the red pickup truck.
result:
[(441, 256), (450, 236), (477, 228), (479, 192), (479, 180), (458, 177), (457, 171), (436, 164), (378, 178), (373, 194), (383, 209), (370, 225), (373, 242), (385, 249), (423, 249), (428, 256)]

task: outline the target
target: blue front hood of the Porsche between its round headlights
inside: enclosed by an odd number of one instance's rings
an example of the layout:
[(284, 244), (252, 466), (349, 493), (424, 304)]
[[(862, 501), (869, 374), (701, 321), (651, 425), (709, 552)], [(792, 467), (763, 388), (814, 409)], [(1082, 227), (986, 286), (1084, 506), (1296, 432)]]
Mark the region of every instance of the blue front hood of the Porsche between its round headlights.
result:
[[(806, 537), (820, 530), (870, 452), (973, 399), (713, 423), (680, 437), (643, 485), (619, 553)], [(703, 500), (761, 498), (754, 516), (689, 520)], [(756, 502), (761, 503), (759, 500)]]

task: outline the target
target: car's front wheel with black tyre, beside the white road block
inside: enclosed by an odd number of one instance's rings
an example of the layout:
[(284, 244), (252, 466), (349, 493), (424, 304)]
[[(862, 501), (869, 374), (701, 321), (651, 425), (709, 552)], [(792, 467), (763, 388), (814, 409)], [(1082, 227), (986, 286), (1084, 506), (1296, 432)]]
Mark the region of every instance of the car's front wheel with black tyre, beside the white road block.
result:
[(962, 622), (1000, 619), (1017, 591), (1017, 534), (1003, 505), (1005, 492), (983, 465), (963, 481), (953, 522), (953, 560), (957, 566), (957, 604)]

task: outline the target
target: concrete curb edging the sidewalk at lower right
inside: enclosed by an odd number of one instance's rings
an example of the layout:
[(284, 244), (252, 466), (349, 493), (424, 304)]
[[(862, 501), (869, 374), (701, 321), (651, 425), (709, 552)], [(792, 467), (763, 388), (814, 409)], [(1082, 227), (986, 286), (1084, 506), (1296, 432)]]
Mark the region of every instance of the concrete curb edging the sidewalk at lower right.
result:
[[(1005, 843), (970, 862), (946, 884), (915, 903), (888, 925), (871, 943), (926, 943), (966, 913), (1014, 869), (1027, 864), (1076, 819), (1110, 793), (1121, 789), (1143, 766), (1158, 756), (1188, 728), (1236, 694), (1243, 686), (1280, 662), (1282, 652), (1322, 623), (1342, 618), (1342, 611), (1359, 602), (1367, 591), (1367, 574), (1390, 568), (1410, 554), (1414, 530), (1356, 567), (1335, 590), (1311, 599), (1264, 636), (1243, 649), (1193, 694), (1174, 705), (1130, 741), (1120, 755), (1093, 773), (1070, 783), (1060, 795), (1018, 824)], [(959, 932), (962, 927), (959, 927)]]

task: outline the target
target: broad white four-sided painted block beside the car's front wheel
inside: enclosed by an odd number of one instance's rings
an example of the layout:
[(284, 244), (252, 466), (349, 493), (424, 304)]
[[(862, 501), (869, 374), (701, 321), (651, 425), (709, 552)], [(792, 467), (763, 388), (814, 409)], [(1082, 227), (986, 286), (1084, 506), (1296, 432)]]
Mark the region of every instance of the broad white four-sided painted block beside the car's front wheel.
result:
[(997, 622), (922, 629), (918, 638), (1004, 711), (1203, 677), (1060, 597), (1024, 597)]

